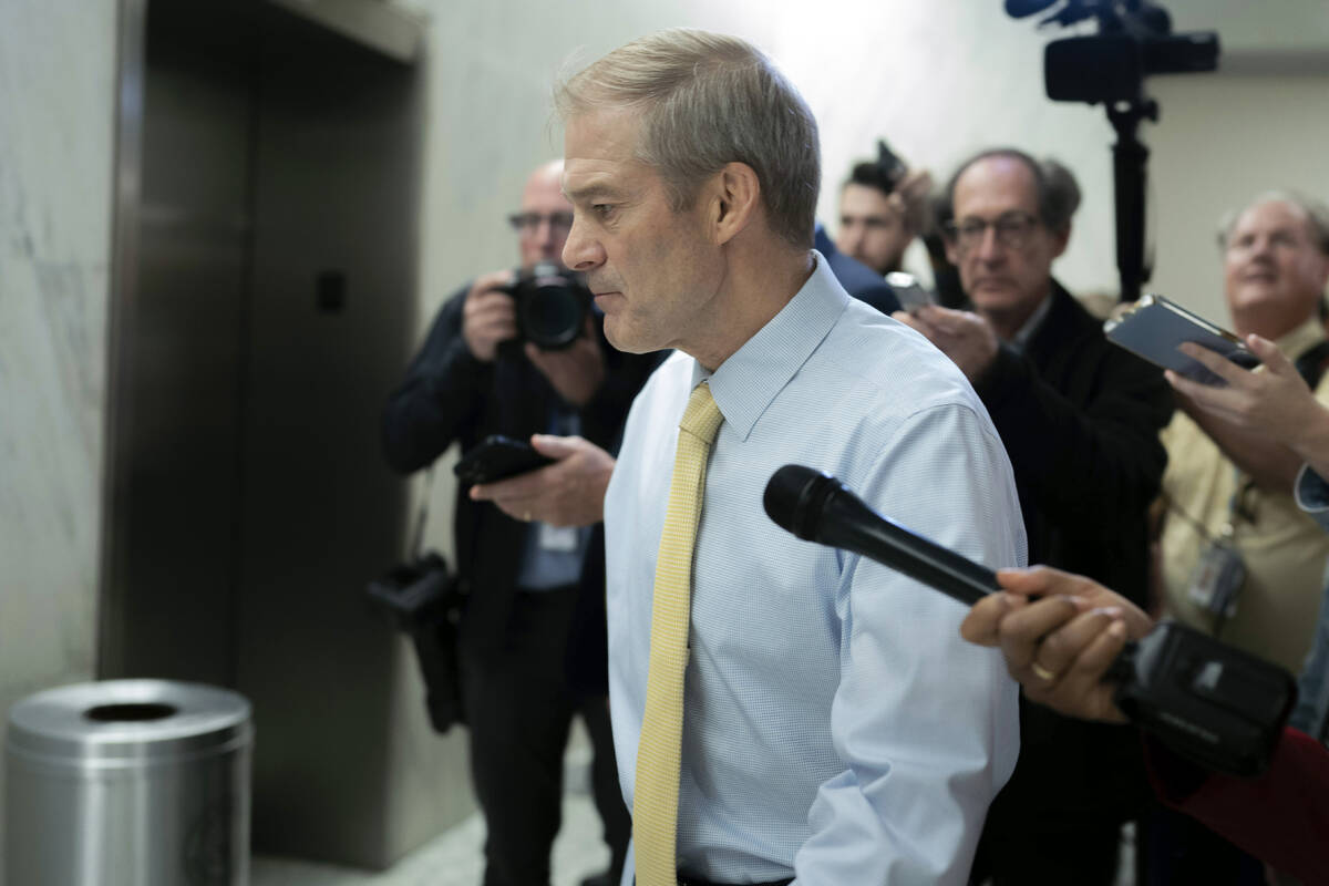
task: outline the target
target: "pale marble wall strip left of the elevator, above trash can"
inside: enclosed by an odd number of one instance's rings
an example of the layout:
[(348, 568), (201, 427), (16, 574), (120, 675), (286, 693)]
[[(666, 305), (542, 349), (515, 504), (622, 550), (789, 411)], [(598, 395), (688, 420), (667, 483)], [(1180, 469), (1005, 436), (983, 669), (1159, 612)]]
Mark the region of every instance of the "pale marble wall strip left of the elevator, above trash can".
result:
[(116, 9), (0, 3), (0, 711), (94, 660)]

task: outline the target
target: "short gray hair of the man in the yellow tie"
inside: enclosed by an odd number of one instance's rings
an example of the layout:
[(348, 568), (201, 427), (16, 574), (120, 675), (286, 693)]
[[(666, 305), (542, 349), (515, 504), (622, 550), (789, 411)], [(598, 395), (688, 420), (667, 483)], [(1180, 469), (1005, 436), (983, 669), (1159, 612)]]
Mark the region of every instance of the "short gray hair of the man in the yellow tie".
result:
[(812, 246), (821, 185), (817, 124), (751, 44), (704, 31), (661, 31), (554, 89), (563, 121), (603, 108), (641, 110), (637, 159), (661, 173), (674, 211), (690, 209), (702, 183), (726, 163), (747, 163), (771, 228), (795, 247)]

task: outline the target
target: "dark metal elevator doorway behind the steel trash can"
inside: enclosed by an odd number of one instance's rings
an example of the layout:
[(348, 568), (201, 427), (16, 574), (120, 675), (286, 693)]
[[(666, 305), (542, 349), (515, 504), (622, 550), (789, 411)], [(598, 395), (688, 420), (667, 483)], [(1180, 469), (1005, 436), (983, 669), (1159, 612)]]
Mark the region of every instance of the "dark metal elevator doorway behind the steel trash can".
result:
[(416, 328), (420, 73), (276, 4), (145, 13), (101, 676), (238, 688), (255, 846), (383, 866), (459, 808), (411, 786), (460, 766), (363, 600), (403, 554), (379, 414)]

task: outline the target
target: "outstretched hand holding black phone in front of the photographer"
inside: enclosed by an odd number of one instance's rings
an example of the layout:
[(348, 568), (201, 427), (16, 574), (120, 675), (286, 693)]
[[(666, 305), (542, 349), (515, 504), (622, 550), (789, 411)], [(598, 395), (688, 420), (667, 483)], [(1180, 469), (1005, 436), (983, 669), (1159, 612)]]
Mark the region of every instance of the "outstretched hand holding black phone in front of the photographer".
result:
[(474, 501), (492, 501), (505, 514), (552, 526), (590, 526), (605, 515), (605, 489), (614, 457), (581, 437), (534, 434), (530, 445), (553, 465), (470, 487)]

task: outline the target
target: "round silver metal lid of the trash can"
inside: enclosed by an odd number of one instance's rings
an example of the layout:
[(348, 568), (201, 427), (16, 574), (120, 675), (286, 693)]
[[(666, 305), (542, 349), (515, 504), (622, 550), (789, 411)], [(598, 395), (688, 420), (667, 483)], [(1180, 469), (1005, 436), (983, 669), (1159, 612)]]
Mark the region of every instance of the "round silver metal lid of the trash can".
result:
[(171, 680), (102, 680), (37, 692), (9, 708), (9, 753), (48, 762), (136, 764), (218, 753), (253, 740), (250, 703)]

